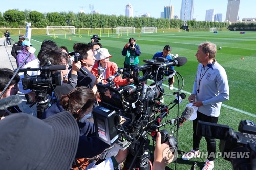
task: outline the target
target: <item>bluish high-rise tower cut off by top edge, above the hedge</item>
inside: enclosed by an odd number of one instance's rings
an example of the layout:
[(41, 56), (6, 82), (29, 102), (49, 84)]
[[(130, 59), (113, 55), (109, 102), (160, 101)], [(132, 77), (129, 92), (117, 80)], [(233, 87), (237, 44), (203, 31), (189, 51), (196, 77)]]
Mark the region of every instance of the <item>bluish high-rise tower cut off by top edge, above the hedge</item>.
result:
[(180, 19), (184, 21), (192, 20), (194, 13), (194, 0), (182, 0)]

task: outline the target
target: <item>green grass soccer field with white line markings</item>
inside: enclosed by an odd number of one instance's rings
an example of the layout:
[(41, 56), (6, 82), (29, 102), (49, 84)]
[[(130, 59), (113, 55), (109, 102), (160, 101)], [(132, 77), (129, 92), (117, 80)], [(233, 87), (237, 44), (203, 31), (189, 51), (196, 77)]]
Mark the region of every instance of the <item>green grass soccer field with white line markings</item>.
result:
[[(92, 34), (93, 35), (93, 34)], [(66, 46), (69, 51), (73, 51), (73, 44), (76, 42), (90, 42), (90, 35), (69, 36), (58, 35), (58, 38), (47, 35), (32, 35), (31, 43), (37, 49), (36, 54), (40, 50), (41, 42), (45, 39), (53, 39), (58, 46)], [(13, 36), (14, 37), (14, 36)], [(143, 65), (143, 59), (152, 59), (153, 55), (162, 51), (165, 45), (172, 46), (173, 54), (186, 57), (187, 63), (181, 67), (175, 67), (175, 70), (184, 78), (183, 92), (190, 95), (193, 82), (196, 75), (198, 61), (195, 57), (197, 47), (202, 42), (212, 42), (221, 47), (217, 51), (216, 60), (225, 68), (230, 88), (230, 100), (223, 102), (219, 124), (225, 124), (238, 131), (240, 120), (253, 120), (256, 122), (256, 105), (254, 96), (256, 95), (256, 32), (177, 32), (177, 33), (150, 33), (150, 34), (102, 34), (100, 43), (104, 48), (108, 48), (109, 53), (113, 56), (110, 61), (117, 63), (118, 67), (123, 67), (124, 56), (121, 51), (130, 37), (136, 39), (136, 43), (140, 46), (141, 56), (140, 65)], [(179, 78), (181, 78), (179, 76)], [(164, 82), (167, 84), (167, 81)], [(178, 81), (174, 83), (175, 89), (170, 91), (167, 86), (165, 93), (172, 94), (177, 91)], [(184, 99), (180, 104), (179, 115), (184, 110), (188, 100)], [(175, 98), (174, 96), (165, 96), (165, 104), (169, 104)], [(170, 110), (167, 119), (177, 116), (177, 106)], [(163, 120), (164, 122), (164, 120)], [(169, 126), (165, 127), (170, 131)], [(190, 151), (192, 147), (192, 124), (186, 122), (179, 128), (178, 144), (180, 151)], [(219, 145), (219, 140), (217, 140)], [(201, 141), (201, 151), (206, 151), (206, 142)], [(217, 147), (218, 148), (218, 147)], [(219, 151), (219, 149), (217, 149)], [(177, 169), (190, 169), (193, 161), (197, 162), (200, 168), (203, 167), (205, 158), (194, 158), (189, 161), (183, 161), (178, 158)], [(174, 169), (175, 164), (169, 165)], [(199, 169), (199, 167), (197, 167)], [(221, 156), (215, 160), (215, 169), (232, 169), (231, 163), (224, 160)]]

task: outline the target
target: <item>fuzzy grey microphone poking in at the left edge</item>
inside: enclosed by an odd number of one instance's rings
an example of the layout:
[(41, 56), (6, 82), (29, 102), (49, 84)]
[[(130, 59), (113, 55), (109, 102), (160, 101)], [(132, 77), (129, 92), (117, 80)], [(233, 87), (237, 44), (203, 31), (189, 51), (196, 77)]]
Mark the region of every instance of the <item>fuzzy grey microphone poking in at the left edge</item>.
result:
[(11, 95), (7, 98), (0, 99), (0, 110), (4, 110), (11, 106), (17, 106), (22, 103), (22, 98), (19, 95)]

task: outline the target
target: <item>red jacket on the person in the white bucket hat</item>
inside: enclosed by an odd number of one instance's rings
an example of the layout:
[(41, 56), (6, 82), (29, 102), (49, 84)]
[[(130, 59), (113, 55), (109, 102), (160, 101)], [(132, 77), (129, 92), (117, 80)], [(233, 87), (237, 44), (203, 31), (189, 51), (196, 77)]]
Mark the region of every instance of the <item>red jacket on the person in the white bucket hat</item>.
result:
[[(99, 61), (97, 61), (94, 64), (94, 66), (91, 70), (92, 74), (95, 75), (96, 77), (98, 77), (98, 67), (99, 67)], [(117, 68), (118, 67), (117, 67), (116, 63), (109, 61), (107, 63), (107, 68), (106, 68), (106, 78), (114, 75), (116, 73)], [(114, 81), (115, 85), (117, 86), (117, 88), (119, 88), (118, 85), (121, 85), (121, 86), (128, 85), (127, 79), (123, 79), (121, 76), (117, 76), (113, 81)], [(102, 83), (106, 84), (108, 82), (106, 81), (106, 79), (103, 79)]]

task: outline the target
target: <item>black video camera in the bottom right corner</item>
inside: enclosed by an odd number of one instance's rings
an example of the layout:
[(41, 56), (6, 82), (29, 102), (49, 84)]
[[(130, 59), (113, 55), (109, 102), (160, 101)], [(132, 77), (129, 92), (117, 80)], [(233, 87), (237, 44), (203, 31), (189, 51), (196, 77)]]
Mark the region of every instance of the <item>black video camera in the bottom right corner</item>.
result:
[(242, 120), (234, 132), (227, 125), (198, 121), (197, 135), (220, 139), (222, 157), (230, 161), (233, 169), (256, 169), (256, 125)]

